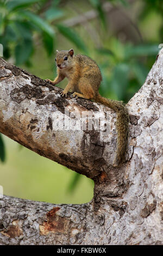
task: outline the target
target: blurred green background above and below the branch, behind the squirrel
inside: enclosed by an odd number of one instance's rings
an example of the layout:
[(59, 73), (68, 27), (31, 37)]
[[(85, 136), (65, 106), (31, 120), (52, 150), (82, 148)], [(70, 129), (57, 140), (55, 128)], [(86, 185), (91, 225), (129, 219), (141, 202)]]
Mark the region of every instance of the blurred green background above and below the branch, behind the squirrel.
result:
[[(128, 100), (145, 82), (163, 43), (162, 0), (0, 1), (0, 44), (8, 62), (54, 79), (55, 50), (96, 60), (100, 93)], [(59, 87), (64, 88), (64, 80)], [(4, 194), (51, 203), (85, 203), (93, 182), (0, 134)]]

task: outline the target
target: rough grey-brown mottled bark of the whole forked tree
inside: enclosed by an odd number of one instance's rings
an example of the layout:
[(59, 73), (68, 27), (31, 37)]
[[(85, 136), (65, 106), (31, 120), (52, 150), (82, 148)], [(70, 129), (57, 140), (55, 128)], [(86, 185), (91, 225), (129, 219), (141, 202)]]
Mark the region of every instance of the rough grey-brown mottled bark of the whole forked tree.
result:
[[(129, 144), (126, 162), (119, 168), (112, 167), (116, 114), (111, 109), (73, 99), (71, 94), (62, 98), (60, 88), (3, 59), (0, 67), (0, 132), (95, 181), (92, 201), (82, 205), (4, 196), (0, 200), (0, 244), (162, 244), (163, 49), (128, 103)], [(61, 125), (65, 107), (77, 113), (90, 109), (94, 114), (110, 113), (109, 134), (96, 129), (54, 131), (54, 113), (59, 111)]]

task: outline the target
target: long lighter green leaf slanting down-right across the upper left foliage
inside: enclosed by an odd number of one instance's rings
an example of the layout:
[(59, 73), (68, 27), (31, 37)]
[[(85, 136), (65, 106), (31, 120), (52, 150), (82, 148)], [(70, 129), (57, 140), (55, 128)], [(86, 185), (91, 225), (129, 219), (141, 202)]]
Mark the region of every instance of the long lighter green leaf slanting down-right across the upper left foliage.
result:
[(30, 22), (33, 22), (35, 26), (41, 29), (42, 32), (47, 33), (52, 38), (54, 37), (54, 30), (53, 28), (39, 16), (31, 13), (30, 11), (22, 10), (18, 13), (19, 15), (23, 16), (24, 18), (28, 19)]

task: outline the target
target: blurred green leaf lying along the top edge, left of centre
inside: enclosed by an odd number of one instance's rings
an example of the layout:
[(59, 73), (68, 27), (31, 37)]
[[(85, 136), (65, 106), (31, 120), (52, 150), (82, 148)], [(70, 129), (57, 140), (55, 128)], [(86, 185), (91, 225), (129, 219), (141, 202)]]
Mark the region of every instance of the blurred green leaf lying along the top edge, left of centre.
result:
[[(42, 1), (42, 0), (40, 0)], [(21, 8), (27, 8), (30, 5), (40, 2), (39, 0), (13, 0), (7, 3), (7, 8), (9, 11), (14, 11)]]

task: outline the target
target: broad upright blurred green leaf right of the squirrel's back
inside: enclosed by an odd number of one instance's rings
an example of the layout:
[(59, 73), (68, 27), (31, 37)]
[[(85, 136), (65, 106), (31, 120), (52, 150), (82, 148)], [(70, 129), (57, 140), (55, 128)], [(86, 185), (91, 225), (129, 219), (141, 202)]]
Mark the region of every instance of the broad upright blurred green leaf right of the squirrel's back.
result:
[(118, 100), (126, 100), (128, 87), (129, 66), (126, 63), (119, 63), (112, 71), (111, 87), (116, 93)]

